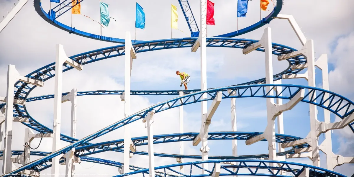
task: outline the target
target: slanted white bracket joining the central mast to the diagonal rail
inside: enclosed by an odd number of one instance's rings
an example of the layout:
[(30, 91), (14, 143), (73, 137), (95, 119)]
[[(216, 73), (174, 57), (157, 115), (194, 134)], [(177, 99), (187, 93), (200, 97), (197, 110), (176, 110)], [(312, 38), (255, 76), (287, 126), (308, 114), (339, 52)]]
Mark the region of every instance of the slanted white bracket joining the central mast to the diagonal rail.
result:
[(218, 92), (216, 94), (216, 97), (213, 99), (212, 104), (210, 105), (210, 108), (208, 109), (208, 112), (206, 114), (206, 119), (205, 122), (202, 122), (200, 133), (196, 138), (193, 139), (193, 145), (196, 146), (200, 143), (202, 138), (205, 138), (205, 136), (208, 136), (209, 132), (209, 125), (211, 124), (211, 118), (213, 117), (216, 109), (218, 108), (220, 102), (222, 99), (222, 92)]

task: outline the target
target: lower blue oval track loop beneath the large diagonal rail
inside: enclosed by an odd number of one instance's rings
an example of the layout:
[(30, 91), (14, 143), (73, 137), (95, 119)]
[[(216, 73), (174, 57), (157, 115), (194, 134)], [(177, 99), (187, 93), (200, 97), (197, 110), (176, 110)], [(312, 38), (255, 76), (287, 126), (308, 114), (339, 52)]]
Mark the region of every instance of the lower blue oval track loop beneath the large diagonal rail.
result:
[[(238, 140), (247, 140), (251, 137), (255, 137), (257, 135), (260, 135), (262, 133), (260, 132), (209, 132), (208, 139), (209, 140), (227, 140), (227, 139), (238, 139)], [(193, 141), (193, 139), (198, 135), (198, 133), (175, 133), (175, 134), (168, 134), (168, 135), (155, 135), (153, 136), (154, 138), (154, 144), (160, 144), (160, 143), (170, 143), (170, 142), (180, 142), (180, 141)], [(299, 139), (302, 139), (300, 137), (295, 137), (295, 136), (289, 136), (289, 135), (281, 135), (281, 134), (276, 134), (276, 142), (277, 143), (287, 143), (287, 142), (292, 142), (296, 141)], [(141, 146), (141, 145), (147, 145), (147, 136), (144, 137), (136, 137), (132, 138), (133, 143), (136, 146)], [(266, 141), (266, 140), (262, 140)], [(85, 145), (81, 146), (77, 149), (75, 149), (75, 156), (80, 157), (81, 160), (83, 161), (88, 161), (85, 160), (87, 158), (90, 158), (90, 160), (95, 160), (96, 158), (91, 158), (87, 157), (88, 155), (92, 154), (97, 154), (97, 153), (102, 153), (102, 152), (107, 152), (107, 151), (116, 151), (116, 152), (124, 152), (122, 148), (124, 140), (116, 140), (116, 141), (108, 141), (108, 142), (101, 142), (101, 143), (96, 143), (96, 144), (90, 144), (90, 145)], [(308, 144), (303, 144), (299, 146), (295, 146), (290, 150), (287, 150), (285, 152), (280, 152), (277, 153), (277, 156), (282, 156), (285, 154), (293, 154), (295, 152), (295, 148), (305, 148), (308, 147)], [(11, 151), (12, 155), (21, 155), (23, 151)], [(137, 152), (132, 152), (134, 154), (138, 155), (148, 155), (148, 152), (142, 152), (142, 151), (137, 151)], [(37, 156), (46, 156), (50, 154), (50, 152), (32, 152), (30, 155), (37, 155)], [(2, 151), (0, 151), (0, 156), (2, 156)], [(164, 154), (164, 153), (154, 153), (154, 156), (160, 156), (160, 157), (169, 157), (169, 158), (188, 158), (188, 159), (201, 159), (201, 156), (199, 155), (179, 155), (179, 154)], [(259, 154), (259, 155), (238, 155), (238, 156), (209, 156), (209, 159), (251, 159), (251, 158), (268, 158), (269, 154)], [(61, 162), (64, 162), (62, 158)], [(102, 161), (104, 159), (96, 159), (95, 161)], [(94, 162), (95, 162), (94, 161)], [(51, 167), (51, 159), (49, 161), (46, 161), (44, 163), (41, 163), (39, 165), (33, 166), (31, 169), (35, 171), (43, 171), (49, 167)], [(108, 163), (108, 162), (107, 162)], [(113, 164), (113, 165), (112, 165)], [(120, 162), (114, 162), (111, 161), (110, 163), (106, 165), (121, 165), (122, 163)], [(137, 166), (132, 166), (132, 169), (136, 170), (142, 170), (143, 168), (137, 167)], [(139, 169), (141, 168), (141, 169)]]

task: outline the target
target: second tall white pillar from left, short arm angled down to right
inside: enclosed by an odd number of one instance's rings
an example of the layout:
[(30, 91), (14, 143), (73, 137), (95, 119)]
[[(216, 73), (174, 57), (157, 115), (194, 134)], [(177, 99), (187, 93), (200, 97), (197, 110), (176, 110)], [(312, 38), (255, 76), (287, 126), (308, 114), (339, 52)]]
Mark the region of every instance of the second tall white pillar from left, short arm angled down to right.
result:
[[(75, 69), (82, 70), (82, 65), (67, 57), (61, 44), (56, 45), (55, 60), (55, 87), (54, 87), (54, 121), (53, 121), (53, 147), (52, 152), (60, 149), (61, 119), (62, 119), (62, 83), (63, 83), (63, 63), (67, 63)], [(54, 177), (59, 176), (59, 160), (61, 157), (52, 158), (52, 171)]]

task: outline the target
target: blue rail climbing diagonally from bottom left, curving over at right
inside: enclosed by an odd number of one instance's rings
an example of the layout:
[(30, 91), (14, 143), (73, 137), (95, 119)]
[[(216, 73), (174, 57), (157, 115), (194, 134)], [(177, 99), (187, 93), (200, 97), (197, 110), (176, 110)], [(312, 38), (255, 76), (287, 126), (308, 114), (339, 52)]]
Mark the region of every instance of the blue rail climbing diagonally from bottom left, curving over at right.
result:
[[(281, 92), (273, 95), (271, 91), (275, 89), (277, 86), (281, 86)], [(266, 92), (265, 90), (266, 87), (270, 87), (270, 91)], [(227, 92), (227, 90), (230, 89), (232, 92), (236, 91), (238, 94), (233, 96), (230, 93)], [(29, 164), (26, 164), (14, 171), (11, 172), (11, 174), (18, 173), (22, 170), (29, 169), (33, 166), (39, 165), (43, 162), (48, 161), (49, 159), (52, 159), (55, 156), (65, 154), (72, 148), (77, 148), (82, 145), (87, 145), (90, 141), (93, 139), (96, 139), (98, 137), (101, 137), (113, 130), (116, 130), (126, 124), (130, 124), (134, 121), (143, 119), (149, 112), (152, 110), (155, 110), (155, 113), (162, 112), (164, 110), (168, 110), (171, 108), (179, 107), (181, 105), (188, 105), (192, 103), (198, 103), (202, 101), (208, 101), (212, 100), (213, 98), (216, 97), (218, 92), (222, 92), (222, 98), (250, 98), (250, 97), (256, 97), (256, 98), (281, 98), (281, 99), (291, 99), (293, 98), (300, 90), (308, 90), (307, 93), (305, 94), (304, 98), (301, 100), (302, 102), (310, 103), (317, 105), (319, 107), (322, 107), (324, 109), (329, 110), (330, 112), (336, 114), (340, 118), (345, 118), (346, 116), (349, 116), (354, 112), (354, 103), (350, 101), (349, 99), (342, 97), (336, 93), (326, 91), (323, 89), (315, 88), (315, 87), (309, 87), (309, 86), (299, 86), (299, 85), (286, 85), (286, 84), (261, 84), (261, 85), (241, 85), (241, 86), (229, 86), (229, 87), (220, 87), (216, 89), (210, 89), (210, 90), (205, 90), (205, 91), (199, 91), (195, 93), (190, 93), (188, 95), (180, 96), (177, 98), (170, 99), (168, 101), (155, 104), (149, 108), (143, 109), (135, 114), (132, 114), (118, 122), (115, 122), (112, 125), (109, 125), (105, 127), (102, 130), (99, 130), (85, 138), (80, 139), (79, 141), (73, 142), (72, 144), (68, 145), (67, 147), (64, 147), (56, 152), (53, 152), (41, 159), (35, 160), (33, 162), (30, 162)], [(314, 93), (315, 91), (320, 92), (318, 96), (315, 96)], [(272, 91), (273, 92), (273, 91)], [(282, 93), (283, 95), (280, 96), (279, 94)], [(324, 94), (328, 94), (329, 98), (324, 99)], [(206, 94), (207, 98), (202, 99), (202, 95)], [(184, 99), (182, 103), (179, 101)], [(334, 103), (333, 103), (334, 100)], [(325, 103), (329, 103), (328, 106), (325, 106)], [(343, 110), (343, 112), (341, 112)], [(344, 111), (345, 110), (345, 111)]]

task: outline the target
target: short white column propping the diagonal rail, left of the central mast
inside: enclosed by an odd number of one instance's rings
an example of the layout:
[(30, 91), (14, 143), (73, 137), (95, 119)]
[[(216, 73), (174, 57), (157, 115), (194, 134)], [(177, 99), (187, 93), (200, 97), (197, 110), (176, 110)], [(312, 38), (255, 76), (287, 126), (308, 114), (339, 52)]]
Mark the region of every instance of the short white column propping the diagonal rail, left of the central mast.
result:
[(154, 138), (153, 138), (153, 122), (155, 110), (149, 112), (143, 122), (148, 128), (148, 154), (149, 154), (149, 176), (155, 176), (155, 161), (154, 161)]

